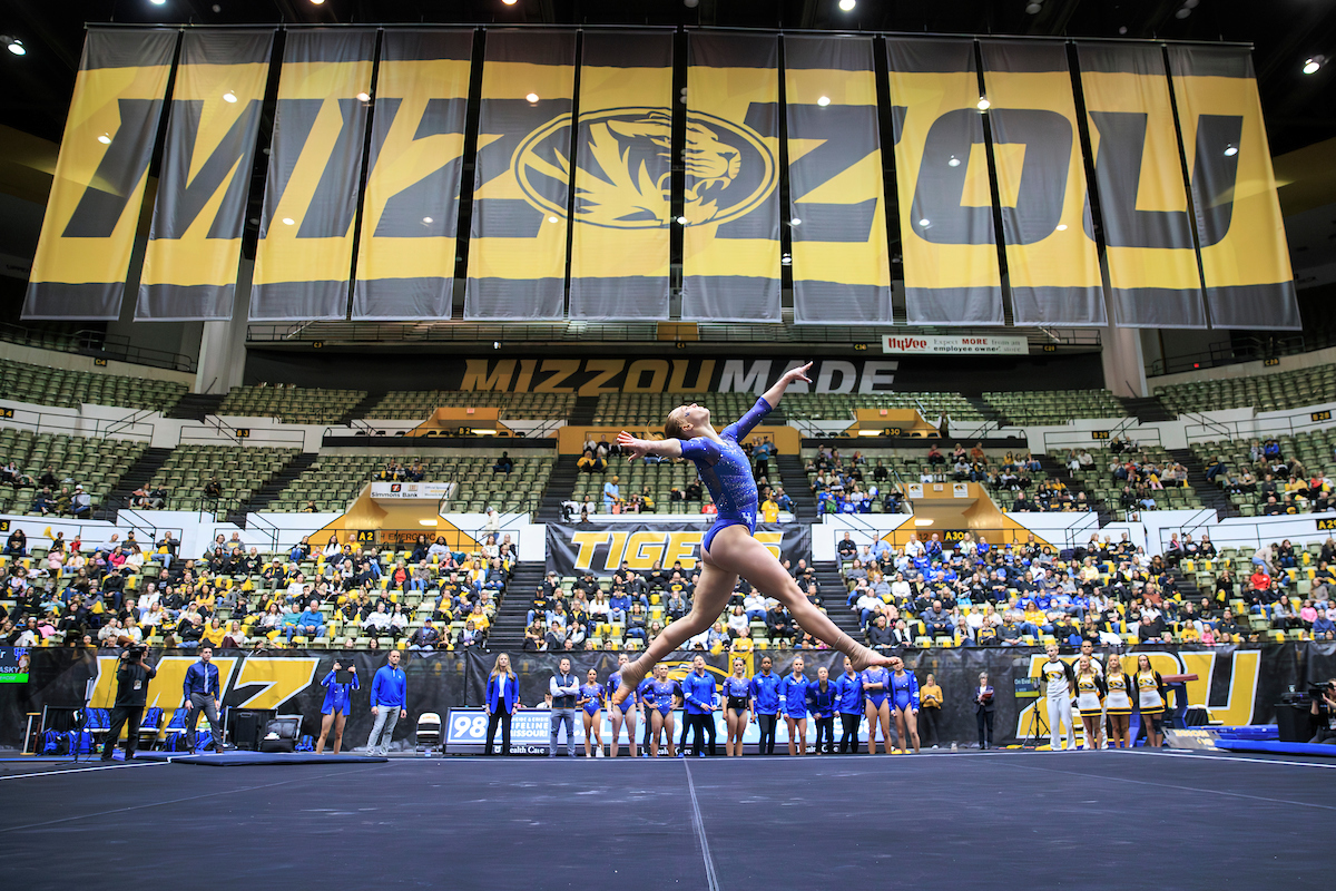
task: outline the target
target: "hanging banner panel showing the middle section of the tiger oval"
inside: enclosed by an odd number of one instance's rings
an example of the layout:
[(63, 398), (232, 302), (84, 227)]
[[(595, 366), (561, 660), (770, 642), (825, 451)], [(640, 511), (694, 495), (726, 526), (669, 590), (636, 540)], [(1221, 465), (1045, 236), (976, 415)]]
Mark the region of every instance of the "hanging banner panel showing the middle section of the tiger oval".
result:
[(570, 318), (668, 318), (672, 106), (672, 35), (585, 33)]

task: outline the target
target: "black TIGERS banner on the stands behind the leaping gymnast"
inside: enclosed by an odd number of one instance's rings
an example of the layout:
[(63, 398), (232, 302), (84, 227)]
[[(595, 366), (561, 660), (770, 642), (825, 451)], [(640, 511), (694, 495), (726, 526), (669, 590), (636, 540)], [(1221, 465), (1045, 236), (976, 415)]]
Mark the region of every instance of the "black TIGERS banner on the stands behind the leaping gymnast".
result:
[[(695, 569), (700, 560), (700, 542), (708, 524), (681, 522), (581, 522), (573, 526), (548, 524), (548, 570), (560, 576), (612, 574), (627, 565), (636, 572), (649, 572), (655, 564)], [(812, 529), (800, 524), (756, 525), (756, 541), (779, 560), (796, 564), (811, 560)]]

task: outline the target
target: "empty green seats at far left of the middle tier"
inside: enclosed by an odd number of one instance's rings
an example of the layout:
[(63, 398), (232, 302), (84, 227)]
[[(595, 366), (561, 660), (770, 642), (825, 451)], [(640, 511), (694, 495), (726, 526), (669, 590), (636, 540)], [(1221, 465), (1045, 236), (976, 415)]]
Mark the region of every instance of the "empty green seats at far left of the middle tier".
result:
[[(94, 506), (103, 504), (130, 465), (143, 454), (146, 442), (65, 434), (0, 430), (0, 465), (13, 461), (33, 481), (47, 465), (53, 465), (57, 480), (69, 480), (73, 490), (81, 484), (92, 496)], [(27, 513), (35, 490), (0, 488), (0, 512)]]

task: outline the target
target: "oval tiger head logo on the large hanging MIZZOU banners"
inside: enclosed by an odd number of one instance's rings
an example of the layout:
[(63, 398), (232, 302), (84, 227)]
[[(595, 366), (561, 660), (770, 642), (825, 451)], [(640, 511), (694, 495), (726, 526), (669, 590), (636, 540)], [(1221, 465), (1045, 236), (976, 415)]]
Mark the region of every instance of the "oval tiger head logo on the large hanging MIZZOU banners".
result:
[[(512, 170), (525, 199), (565, 216), (570, 116), (530, 134)], [(611, 228), (659, 228), (672, 222), (672, 115), (667, 108), (611, 108), (584, 115), (576, 143), (574, 219)], [(775, 155), (752, 130), (712, 115), (687, 115), (687, 226), (723, 223), (754, 211), (776, 184)]]

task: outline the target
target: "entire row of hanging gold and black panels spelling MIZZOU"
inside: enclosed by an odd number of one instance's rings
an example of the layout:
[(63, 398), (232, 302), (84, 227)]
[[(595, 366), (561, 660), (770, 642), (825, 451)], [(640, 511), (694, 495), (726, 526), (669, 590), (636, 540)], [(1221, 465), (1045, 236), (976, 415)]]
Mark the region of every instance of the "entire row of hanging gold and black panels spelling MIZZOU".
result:
[(460, 263), (469, 319), (665, 319), (680, 226), (683, 319), (780, 321), (788, 264), (796, 322), (891, 323), (884, 126), (910, 323), (1002, 325), (1010, 295), (1018, 325), (1300, 325), (1236, 48), (1082, 41), (1075, 77), (1066, 45), (1014, 39), (313, 27), (274, 65), (271, 45), (90, 31), (25, 318), (118, 318), (172, 65), (136, 317), (230, 318), (278, 65), (254, 319), (448, 318)]

